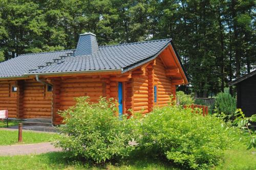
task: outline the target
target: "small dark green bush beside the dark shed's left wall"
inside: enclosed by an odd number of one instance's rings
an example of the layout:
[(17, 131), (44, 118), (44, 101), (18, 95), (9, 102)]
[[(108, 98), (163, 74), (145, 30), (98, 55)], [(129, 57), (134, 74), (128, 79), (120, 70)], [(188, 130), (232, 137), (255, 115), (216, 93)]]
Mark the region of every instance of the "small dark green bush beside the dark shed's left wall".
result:
[(216, 113), (224, 113), (232, 117), (236, 112), (236, 99), (232, 98), (229, 93), (218, 93), (215, 100)]

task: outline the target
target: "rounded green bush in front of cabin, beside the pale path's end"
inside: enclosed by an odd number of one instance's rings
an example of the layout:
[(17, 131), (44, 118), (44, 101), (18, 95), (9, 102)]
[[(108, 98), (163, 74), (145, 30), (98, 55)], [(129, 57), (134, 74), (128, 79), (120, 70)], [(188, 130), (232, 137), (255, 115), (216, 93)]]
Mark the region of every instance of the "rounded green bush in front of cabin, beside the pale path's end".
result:
[(63, 122), (61, 137), (55, 145), (96, 163), (124, 157), (132, 150), (132, 119), (115, 116), (116, 104), (101, 98), (89, 104), (88, 97), (76, 99), (77, 104), (60, 112)]

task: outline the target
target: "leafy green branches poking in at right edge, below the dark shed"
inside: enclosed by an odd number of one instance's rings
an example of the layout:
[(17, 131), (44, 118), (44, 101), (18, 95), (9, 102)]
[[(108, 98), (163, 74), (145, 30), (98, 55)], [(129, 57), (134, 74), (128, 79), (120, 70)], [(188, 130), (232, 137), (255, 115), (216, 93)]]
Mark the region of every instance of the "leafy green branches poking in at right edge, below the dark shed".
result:
[(233, 124), (238, 126), (243, 130), (245, 136), (249, 134), (249, 139), (246, 141), (247, 149), (254, 148), (256, 149), (256, 130), (253, 130), (250, 123), (256, 122), (256, 114), (253, 114), (251, 117), (245, 117), (245, 114), (241, 109), (237, 109), (235, 113), (236, 119), (234, 119)]

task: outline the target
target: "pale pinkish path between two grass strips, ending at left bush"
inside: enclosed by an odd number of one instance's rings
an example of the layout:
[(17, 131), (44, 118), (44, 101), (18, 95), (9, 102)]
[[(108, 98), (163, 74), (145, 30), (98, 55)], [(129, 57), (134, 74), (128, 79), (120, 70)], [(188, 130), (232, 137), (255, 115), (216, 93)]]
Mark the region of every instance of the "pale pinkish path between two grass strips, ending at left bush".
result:
[(34, 144), (15, 144), (0, 145), (0, 156), (12, 155), (30, 155), (47, 152), (62, 151), (60, 148), (54, 148), (51, 142), (34, 143)]

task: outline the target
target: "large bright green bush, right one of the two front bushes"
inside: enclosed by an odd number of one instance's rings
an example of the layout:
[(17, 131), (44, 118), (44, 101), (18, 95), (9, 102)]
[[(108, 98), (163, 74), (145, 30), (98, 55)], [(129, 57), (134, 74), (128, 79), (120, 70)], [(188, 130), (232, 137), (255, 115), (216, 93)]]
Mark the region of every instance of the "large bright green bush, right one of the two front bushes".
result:
[(191, 169), (208, 169), (218, 164), (229, 147), (231, 130), (218, 117), (191, 113), (179, 107), (156, 108), (139, 128), (138, 147)]

